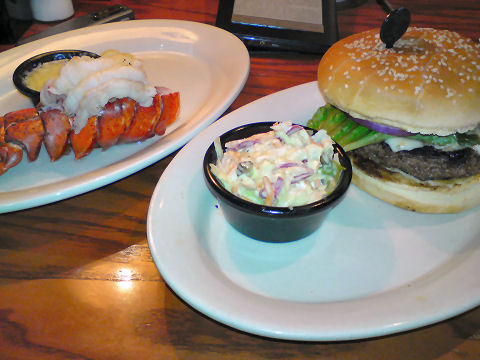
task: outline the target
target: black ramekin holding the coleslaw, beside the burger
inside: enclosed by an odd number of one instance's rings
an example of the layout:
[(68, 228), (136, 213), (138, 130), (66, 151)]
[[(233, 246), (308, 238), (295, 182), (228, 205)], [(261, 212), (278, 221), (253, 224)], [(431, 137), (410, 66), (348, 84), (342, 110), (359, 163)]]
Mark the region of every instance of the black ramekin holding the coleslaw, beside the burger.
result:
[[(220, 136), (222, 148), (225, 143), (243, 139), (253, 134), (271, 130), (274, 122), (243, 125)], [(314, 129), (304, 126), (313, 133)], [(241, 199), (226, 190), (213, 175), (210, 164), (215, 163), (217, 154), (213, 143), (203, 159), (203, 174), (210, 192), (216, 197), (227, 221), (242, 234), (267, 242), (288, 242), (310, 235), (322, 224), (328, 212), (345, 195), (352, 180), (352, 166), (345, 151), (334, 144), (340, 164), (344, 167), (337, 187), (322, 200), (292, 208), (273, 207), (252, 203)]]

